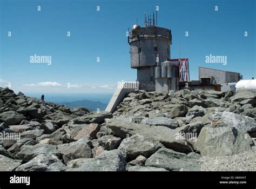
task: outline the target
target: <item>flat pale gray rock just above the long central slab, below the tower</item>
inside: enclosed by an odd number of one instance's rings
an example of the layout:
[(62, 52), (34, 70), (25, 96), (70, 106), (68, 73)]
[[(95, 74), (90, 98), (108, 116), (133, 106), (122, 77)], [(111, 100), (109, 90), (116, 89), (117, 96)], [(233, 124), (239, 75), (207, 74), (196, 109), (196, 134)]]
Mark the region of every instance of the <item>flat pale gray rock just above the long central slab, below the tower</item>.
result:
[(154, 125), (154, 126), (166, 126), (166, 127), (169, 127), (170, 129), (175, 129), (179, 126), (179, 123), (176, 120), (166, 118), (166, 117), (156, 117), (153, 119), (144, 118), (141, 124)]

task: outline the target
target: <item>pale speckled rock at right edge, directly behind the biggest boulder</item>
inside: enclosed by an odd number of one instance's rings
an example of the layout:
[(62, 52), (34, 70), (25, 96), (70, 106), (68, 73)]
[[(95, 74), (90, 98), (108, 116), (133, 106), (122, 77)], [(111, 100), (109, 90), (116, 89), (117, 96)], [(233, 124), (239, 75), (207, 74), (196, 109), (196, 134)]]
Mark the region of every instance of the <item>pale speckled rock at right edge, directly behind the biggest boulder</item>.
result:
[(233, 126), (238, 130), (252, 132), (256, 130), (256, 122), (248, 116), (240, 116), (232, 112), (219, 112), (211, 116), (213, 127)]

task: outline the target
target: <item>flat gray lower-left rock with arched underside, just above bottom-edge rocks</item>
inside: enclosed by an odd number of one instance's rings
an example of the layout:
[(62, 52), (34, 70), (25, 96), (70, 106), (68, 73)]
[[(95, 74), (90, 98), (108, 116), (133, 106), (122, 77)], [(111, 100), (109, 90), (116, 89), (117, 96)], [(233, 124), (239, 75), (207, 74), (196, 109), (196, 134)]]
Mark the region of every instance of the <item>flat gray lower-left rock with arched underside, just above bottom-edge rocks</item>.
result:
[(57, 146), (50, 145), (50, 144), (37, 144), (35, 146), (23, 145), (21, 147), (21, 151), (19, 151), (16, 154), (15, 158), (21, 159), (24, 161), (30, 161), (31, 159), (35, 158), (39, 154), (43, 154), (43, 153), (60, 157), (60, 153), (57, 150)]

